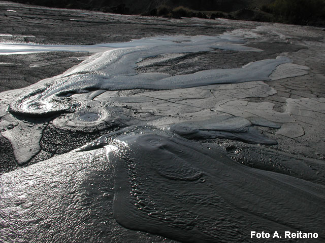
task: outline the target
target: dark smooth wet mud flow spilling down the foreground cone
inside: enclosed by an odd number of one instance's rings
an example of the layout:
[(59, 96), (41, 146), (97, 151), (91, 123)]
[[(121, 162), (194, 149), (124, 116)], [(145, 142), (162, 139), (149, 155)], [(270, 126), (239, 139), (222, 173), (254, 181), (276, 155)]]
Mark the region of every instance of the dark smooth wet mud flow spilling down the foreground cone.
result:
[(104, 145), (114, 170), (114, 218), (126, 228), (181, 242), (239, 242), (251, 227), (324, 233), (323, 185), (248, 168), (225, 152), (148, 128)]

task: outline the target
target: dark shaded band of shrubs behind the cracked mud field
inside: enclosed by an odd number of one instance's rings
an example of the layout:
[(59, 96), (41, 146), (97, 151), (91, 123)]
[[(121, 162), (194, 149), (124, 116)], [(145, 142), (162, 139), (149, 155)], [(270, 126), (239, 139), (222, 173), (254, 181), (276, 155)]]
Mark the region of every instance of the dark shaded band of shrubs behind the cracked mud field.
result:
[[(230, 18), (291, 24), (325, 25), (325, 0), (12, 0), (47, 7), (163, 16)], [(162, 5), (163, 4), (163, 5)], [(159, 6), (160, 5), (160, 6)]]

